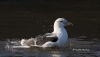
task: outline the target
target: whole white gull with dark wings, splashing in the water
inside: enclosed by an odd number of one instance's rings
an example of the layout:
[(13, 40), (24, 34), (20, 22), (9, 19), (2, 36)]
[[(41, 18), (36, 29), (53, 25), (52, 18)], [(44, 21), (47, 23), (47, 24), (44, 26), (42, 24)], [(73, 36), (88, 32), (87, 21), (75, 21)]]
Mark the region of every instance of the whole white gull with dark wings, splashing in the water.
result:
[[(54, 22), (54, 31), (52, 33), (46, 33), (43, 36), (36, 37), (36, 44), (41, 45), (41, 47), (54, 47), (57, 46), (59, 48), (65, 47), (66, 42), (68, 40), (68, 34), (64, 26), (73, 26), (71, 22), (68, 22), (64, 18), (58, 18)], [(29, 46), (33, 43), (33, 38), (25, 40), (21, 40), (21, 45)]]

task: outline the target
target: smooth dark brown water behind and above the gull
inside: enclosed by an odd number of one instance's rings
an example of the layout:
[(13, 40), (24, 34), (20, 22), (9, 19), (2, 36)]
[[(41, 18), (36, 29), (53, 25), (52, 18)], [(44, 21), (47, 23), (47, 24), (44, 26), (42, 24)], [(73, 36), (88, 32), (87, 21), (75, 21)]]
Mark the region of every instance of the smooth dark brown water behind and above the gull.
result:
[[(83, 3), (83, 4), (82, 4)], [(53, 31), (53, 23), (66, 18), (74, 24), (66, 27), (69, 37), (100, 35), (98, 2), (0, 2), (0, 39), (30, 38)]]

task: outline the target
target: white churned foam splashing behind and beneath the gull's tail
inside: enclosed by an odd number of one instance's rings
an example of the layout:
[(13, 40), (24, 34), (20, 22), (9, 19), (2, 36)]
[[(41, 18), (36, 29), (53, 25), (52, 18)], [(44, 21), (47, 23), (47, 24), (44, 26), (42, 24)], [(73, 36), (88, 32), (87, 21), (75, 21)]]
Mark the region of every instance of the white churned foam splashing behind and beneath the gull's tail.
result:
[[(36, 41), (36, 39), (34, 39), (34, 42)], [(40, 45), (37, 45), (36, 43), (34, 44), (34, 45), (31, 45), (31, 46), (22, 46), (21, 44), (20, 44), (20, 41), (18, 41), (18, 40), (15, 40), (15, 39), (13, 39), (13, 40), (7, 40), (7, 42), (6, 42), (6, 45), (5, 45), (5, 49), (6, 50), (13, 50), (13, 49), (26, 49), (26, 48), (31, 48), (31, 47), (42, 47), (42, 46), (40, 46)]]

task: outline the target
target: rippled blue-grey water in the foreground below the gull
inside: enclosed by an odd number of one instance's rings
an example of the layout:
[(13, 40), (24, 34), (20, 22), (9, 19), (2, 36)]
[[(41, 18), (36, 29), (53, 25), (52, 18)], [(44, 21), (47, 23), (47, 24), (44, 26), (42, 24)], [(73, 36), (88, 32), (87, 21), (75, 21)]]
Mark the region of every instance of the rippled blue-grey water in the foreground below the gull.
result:
[[(14, 46), (18, 46), (14, 48)], [(70, 38), (66, 48), (46, 48), (21, 46), (19, 40), (0, 41), (0, 57), (99, 57), (100, 41), (79, 41)]]

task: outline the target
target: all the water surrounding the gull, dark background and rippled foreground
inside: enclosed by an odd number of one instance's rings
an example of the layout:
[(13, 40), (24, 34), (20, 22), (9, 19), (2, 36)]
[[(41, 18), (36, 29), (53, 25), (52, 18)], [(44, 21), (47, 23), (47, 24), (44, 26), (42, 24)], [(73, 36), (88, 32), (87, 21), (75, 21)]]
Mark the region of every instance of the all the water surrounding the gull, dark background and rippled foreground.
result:
[[(0, 2), (0, 57), (100, 57), (100, 3), (77, 3)], [(12, 48), (23, 38), (52, 32), (59, 17), (74, 25), (65, 27), (69, 34), (65, 49)]]

